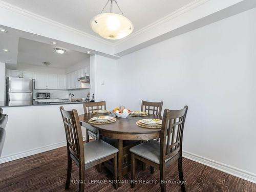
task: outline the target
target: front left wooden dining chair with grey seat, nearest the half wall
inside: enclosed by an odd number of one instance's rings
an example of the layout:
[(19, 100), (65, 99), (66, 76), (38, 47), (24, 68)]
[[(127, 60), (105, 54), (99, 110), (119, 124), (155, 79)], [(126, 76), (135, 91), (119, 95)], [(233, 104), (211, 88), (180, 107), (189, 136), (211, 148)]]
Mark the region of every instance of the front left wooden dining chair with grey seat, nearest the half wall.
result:
[[(65, 189), (69, 189), (70, 186), (72, 160), (79, 167), (79, 180), (84, 181), (85, 169), (112, 159), (114, 166), (114, 180), (117, 181), (118, 149), (102, 140), (83, 143), (82, 130), (77, 111), (65, 111), (63, 106), (60, 106), (60, 112), (65, 127), (68, 150), (68, 170)], [(83, 192), (84, 190), (83, 183), (84, 182), (79, 182), (79, 192)], [(117, 189), (117, 187), (118, 185), (114, 184), (114, 188)]]

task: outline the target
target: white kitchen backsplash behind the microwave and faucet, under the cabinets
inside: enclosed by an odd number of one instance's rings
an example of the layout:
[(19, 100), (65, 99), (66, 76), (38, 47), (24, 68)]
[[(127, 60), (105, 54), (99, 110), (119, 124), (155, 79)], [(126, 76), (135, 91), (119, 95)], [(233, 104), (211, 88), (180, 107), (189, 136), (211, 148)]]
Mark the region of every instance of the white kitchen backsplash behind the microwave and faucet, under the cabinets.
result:
[(69, 94), (73, 93), (73, 98), (82, 98), (87, 97), (87, 93), (89, 93), (89, 89), (83, 90), (34, 90), (33, 98), (36, 99), (37, 92), (47, 92), (50, 93), (51, 98), (60, 98), (60, 99), (68, 99)]

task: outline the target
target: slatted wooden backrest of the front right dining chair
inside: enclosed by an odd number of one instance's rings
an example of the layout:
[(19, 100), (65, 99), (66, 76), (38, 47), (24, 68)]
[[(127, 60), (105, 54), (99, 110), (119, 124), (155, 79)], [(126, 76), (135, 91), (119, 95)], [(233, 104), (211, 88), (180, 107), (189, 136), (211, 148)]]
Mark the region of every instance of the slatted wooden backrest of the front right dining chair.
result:
[(182, 138), (188, 106), (164, 110), (160, 140), (160, 162), (182, 153)]

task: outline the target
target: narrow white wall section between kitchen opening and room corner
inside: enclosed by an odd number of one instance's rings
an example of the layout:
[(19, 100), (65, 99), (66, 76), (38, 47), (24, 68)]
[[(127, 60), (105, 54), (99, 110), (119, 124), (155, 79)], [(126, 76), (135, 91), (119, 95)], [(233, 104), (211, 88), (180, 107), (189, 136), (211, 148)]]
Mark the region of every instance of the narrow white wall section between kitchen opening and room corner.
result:
[[(106, 108), (112, 110), (116, 103), (116, 60), (100, 55), (91, 56), (90, 96), (95, 101), (106, 101)], [(103, 83), (104, 82), (104, 83)]]

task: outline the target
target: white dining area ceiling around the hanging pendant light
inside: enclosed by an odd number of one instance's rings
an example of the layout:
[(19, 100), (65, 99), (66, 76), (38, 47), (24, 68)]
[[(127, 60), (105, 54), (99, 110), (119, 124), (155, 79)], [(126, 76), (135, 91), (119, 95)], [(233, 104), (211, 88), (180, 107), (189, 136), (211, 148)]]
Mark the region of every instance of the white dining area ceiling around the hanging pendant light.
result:
[[(124, 16), (132, 20), (134, 32), (136, 32), (193, 1), (117, 0), (117, 3)], [(101, 12), (107, 0), (4, 0), (4, 2), (99, 37), (91, 30), (89, 23), (93, 16)], [(109, 7), (107, 8), (109, 10)], [(116, 5), (114, 5), (114, 12), (118, 13)], [(109, 41), (115, 42), (115, 40)]]

